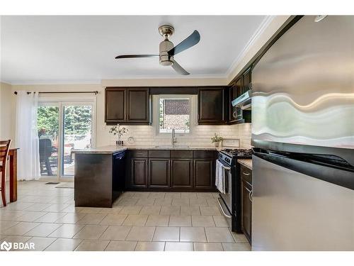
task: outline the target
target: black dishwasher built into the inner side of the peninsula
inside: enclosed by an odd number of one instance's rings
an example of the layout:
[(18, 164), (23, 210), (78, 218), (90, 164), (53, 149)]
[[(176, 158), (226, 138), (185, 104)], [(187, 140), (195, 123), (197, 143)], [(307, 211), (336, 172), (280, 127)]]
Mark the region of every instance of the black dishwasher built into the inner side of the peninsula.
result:
[(125, 150), (113, 153), (112, 172), (112, 202), (122, 194), (125, 189)]

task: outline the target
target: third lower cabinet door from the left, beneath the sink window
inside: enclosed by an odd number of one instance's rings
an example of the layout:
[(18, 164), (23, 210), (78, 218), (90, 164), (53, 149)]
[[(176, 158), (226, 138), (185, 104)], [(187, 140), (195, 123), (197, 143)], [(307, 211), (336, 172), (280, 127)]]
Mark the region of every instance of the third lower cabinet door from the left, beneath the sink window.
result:
[(171, 167), (172, 188), (193, 188), (193, 160), (172, 159)]

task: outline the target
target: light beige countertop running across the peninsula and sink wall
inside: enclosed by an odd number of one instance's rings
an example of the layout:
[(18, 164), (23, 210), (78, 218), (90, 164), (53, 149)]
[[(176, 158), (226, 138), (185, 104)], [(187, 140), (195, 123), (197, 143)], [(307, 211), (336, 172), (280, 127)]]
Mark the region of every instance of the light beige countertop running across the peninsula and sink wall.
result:
[(90, 148), (85, 150), (74, 150), (73, 153), (99, 153), (99, 154), (111, 154), (122, 150), (219, 150), (212, 146), (103, 146), (98, 148)]

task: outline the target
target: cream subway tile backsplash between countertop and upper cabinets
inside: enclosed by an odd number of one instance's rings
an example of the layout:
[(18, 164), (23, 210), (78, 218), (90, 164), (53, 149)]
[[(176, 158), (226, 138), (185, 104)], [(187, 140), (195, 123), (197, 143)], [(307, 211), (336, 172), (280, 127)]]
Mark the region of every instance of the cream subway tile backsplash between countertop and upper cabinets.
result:
[[(129, 132), (122, 136), (124, 145), (139, 145), (139, 146), (152, 146), (152, 145), (170, 145), (171, 134), (156, 135), (154, 126), (124, 126), (128, 128)], [(97, 146), (115, 145), (117, 138), (108, 133), (110, 126), (105, 127), (105, 131), (101, 134), (105, 135), (101, 138), (101, 143)], [(176, 135), (178, 145), (189, 146), (212, 146), (210, 138), (217, 133), (223, 138), (239, 138), (241, 148), (251, 148), (251, 123), (243, 123), (232, 126), (194, 126), (193, 132), (185, 135)], [(127, 138), (134, 138), (134, 143), (127, 142)]]

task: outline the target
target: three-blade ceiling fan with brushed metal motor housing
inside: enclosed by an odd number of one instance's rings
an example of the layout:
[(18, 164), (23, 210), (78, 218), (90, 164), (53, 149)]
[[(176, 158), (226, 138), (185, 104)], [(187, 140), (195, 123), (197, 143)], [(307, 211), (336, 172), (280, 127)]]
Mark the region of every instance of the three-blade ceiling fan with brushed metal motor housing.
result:
[(193, 47), (200, 40), (200, 34), (198, 31), (193, 31), (185, 40), (173, 47), (173, 43), (169, 40), (169, 37), (173, 34), (174, 28), (170, 25), (163, 25), (159, 27), (159, 33), (164, 37), (164, 40), (160, 43), (160, 52), (159, 55), (118, 55), (115, 59), (121, 58), (142, 58), (142, 57), (159, 57), (160, 65), (171, 65), (173, 70), (176, 70), (178, 74), (187, 75), (187, 71), (181, 67), (181, 65), (174, 60), (174, 55), (177, 55), (179, 52), (183, 52), (188, 48)]

